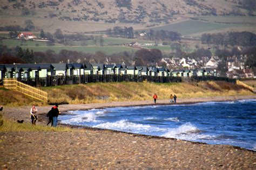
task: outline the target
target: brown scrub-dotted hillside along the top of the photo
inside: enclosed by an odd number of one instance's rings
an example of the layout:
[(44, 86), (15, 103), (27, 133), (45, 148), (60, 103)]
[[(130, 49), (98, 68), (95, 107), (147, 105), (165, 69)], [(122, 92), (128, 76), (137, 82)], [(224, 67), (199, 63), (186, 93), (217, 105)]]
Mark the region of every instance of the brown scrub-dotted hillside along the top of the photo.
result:
[[(250, 0), (248, 0), (250, 1)], [(2, 13), (76, 22), (167, 24), (182, 17), (248, 15), (236, 0), (2, 0)], [(253, 2), (252, 2), (253, 3)], [(42, 12), (43, 11), (43, 12)], [(250, 14), (250, 13), (249, 13)]]

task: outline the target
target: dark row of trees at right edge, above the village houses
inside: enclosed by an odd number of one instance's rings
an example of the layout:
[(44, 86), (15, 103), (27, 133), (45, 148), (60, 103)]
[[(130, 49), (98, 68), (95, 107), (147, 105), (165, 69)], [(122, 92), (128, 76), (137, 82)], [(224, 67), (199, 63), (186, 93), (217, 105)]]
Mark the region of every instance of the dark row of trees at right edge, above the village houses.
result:
[(227, 32), (215, 34), (202, 34), (202, 44), (231, 45), (231, 46), (256, 46), (256, 34), (248, 31)]

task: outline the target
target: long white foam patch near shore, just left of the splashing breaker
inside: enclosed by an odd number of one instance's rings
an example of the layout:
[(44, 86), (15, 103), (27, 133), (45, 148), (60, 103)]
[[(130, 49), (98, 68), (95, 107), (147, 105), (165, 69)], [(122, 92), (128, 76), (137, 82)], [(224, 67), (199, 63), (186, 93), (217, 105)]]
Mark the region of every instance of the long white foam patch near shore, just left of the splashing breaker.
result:
[(133, 132), (133, 133), (163, 131), (162, 129), (154, 126), (131, 123), (131, 122), (128, 122), (126, 119), (122, 119), (117, 122), (106, 122), (106, 123), (98, 124), (93, 126), (93, 128), (112, 129), (112, 130), (127, 131), (127, 132)]

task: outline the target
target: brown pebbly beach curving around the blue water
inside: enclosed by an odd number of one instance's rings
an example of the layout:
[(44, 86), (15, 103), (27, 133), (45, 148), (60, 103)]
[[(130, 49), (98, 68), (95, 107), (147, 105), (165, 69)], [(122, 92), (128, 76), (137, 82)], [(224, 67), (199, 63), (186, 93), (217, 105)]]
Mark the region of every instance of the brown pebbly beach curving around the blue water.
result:
[[(216, 96), (177, 99), (178, 104), (233, 101), (256, 96)], [(62, 112), (105, 107), (152, 105), (153, 101), (59, 105)], [(158, 100), (157, 104), (170, 104)], [(31, 106), (4, 108), (2, 115), (29, 122)], [(37, 107), (37, 124), (46, 124), (51, 106)], [(1, 132), (1, 168), (23, 169), (255, 169), (256, 152), (228, 145), (130, 134), (111, 130), (78, 129), (72, 132)]]

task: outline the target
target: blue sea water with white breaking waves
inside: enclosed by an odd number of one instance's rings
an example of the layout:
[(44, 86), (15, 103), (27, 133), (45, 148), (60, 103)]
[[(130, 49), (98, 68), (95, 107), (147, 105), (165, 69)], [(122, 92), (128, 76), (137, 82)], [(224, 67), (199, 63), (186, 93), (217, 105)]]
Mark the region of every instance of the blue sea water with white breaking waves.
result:
[(256, 151), (256, 100), (77, 110), (59, 119), (63, 124)]

